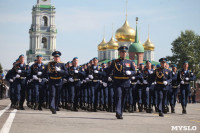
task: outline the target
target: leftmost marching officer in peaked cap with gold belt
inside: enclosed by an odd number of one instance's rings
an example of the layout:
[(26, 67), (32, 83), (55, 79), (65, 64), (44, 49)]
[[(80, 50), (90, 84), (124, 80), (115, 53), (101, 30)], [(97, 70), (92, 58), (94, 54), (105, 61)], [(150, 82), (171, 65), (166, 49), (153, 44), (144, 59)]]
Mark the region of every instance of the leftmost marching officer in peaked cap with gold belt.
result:
[(62, 79), (68, 75), (67, 69), (64, 63), (61, 62), (59, 51), (52, 53), (54, 61), (48, 63), (46, 68), (46, 74), (49, 77), (49, 88), (50, 88), (50, 109), (52, 114), (56, 114), (59, 111), (58, 104), (60, 101), (60, 91), (62, 87)]

